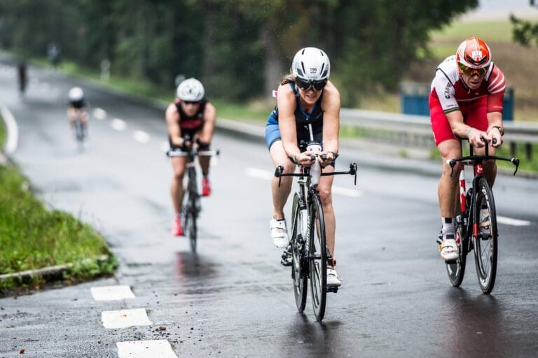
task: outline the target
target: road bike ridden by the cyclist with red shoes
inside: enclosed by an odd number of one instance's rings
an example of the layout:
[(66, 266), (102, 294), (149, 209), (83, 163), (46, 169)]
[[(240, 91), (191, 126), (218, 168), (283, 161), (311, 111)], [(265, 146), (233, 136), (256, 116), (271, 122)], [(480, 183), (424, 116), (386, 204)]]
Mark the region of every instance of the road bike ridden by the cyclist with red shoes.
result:
[[(184, 143), (192, 143), (190, 136), (184, 136)], [(198, 192), (198, 182), (196, 181), (196, 157), (212, 157), (219, 155), (219, 150), (200, 150), (195, 148), (195, 145), (188, 145), (186, 151), (183, 150), (169, 150), (167, 152), (168, 157), (187, 157), (186, 162), (186, 177), (187, 185), (184, 194), (183, 210), (181, 210), (181, 224), (186, 231), (186, 236), (191, 244), (191, 251), (196, 252), (196, 241), (198, 238), (198, 226), (196, 220), (198, 215), (202, 211), (202, 204), (200, 203), (200, 193)]]

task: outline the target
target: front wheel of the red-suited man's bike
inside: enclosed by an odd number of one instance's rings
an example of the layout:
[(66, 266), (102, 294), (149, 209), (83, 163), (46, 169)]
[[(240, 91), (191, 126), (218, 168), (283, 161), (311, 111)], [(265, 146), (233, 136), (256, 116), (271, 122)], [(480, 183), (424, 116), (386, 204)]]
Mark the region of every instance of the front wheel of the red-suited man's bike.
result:
[(474, 215), (474, 261), (478, 284), (482, 292), (489, 294), (495, 285), (497, 274), (497, 213), (495, 200), (488, 181), (478, 180), (476, 188), (476, 213)]

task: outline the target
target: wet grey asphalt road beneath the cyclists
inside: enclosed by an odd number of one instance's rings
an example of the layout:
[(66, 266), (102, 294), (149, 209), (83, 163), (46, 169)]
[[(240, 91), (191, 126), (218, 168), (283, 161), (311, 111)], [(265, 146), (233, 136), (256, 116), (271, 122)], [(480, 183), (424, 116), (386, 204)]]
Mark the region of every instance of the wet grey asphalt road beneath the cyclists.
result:
[[(497, 281), (485, 296), (473, 262), (455, 289), (439, 259), (436, 166), (415, 173), (413, 162), (391, 159), (384, 162), (409, 170), (373, 168), (375, 155), (342, 148), (337, 168), (356, 161), (359, 178), (357, 187), (351, 177), (335, 180), (343, 188), (333, 201), (344, 282), (319, 324), (310, 301), (296, 312), (289, 268), (269, 240), (273, 169), (263, 141), (217, 132), (222, 155), (192, 255), (184, 238), (169, 234), (163, 111), (82, 84), (91, 109), (107, 115), (92, 118), (79, 153), (65, 116), (65, 94), (78, 80), (31, 69), (22, 101), (10, 73), (1, 66), (0, 101), (20, 130), (12, 159), (50, 206), (99, 229), (121, 264), (113, 278), (0, 299), (0, 357), (118, 357), (117, 342), (151, 339), (169, 341), (177, 357), (537, 355), (535, 180), (497, 180), (497, 214), (530, 225), (499, 224)], [(136, 299), (94, 301), (90, 287), (103, 285), (130, 285)], [(126, 308), (146, 308), (153, 324), (103, 327), (102, 311)]]

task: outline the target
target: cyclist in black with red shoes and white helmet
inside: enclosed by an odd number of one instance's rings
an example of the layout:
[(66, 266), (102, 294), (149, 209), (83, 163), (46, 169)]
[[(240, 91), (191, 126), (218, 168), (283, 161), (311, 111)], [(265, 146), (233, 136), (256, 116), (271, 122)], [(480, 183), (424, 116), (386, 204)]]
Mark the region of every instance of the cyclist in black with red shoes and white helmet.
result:
[[(184, 143), (184, 136), (192, 138), (193, 145), (198, 150), (209, 150), (215, 128), (215, 107), (205, 99), (204, 86), (195, 78), (188, 78), (177, 87), (177, 99), (170, 103), (166, 110), (168, 139), (171, 150), (184, 150), (191, 143)], [(209, 159), (198, 157), (202, 168), (202, 196), (211, 194), (209, 185)], [(183, 235), (181, 227), (181, 203), (183, 202), (183, 178), (187, 157), (172, 157), (170, 159), (174, 176), (170, 188), (172, 203), (176, 216), (172, 224), (172, 234)]]

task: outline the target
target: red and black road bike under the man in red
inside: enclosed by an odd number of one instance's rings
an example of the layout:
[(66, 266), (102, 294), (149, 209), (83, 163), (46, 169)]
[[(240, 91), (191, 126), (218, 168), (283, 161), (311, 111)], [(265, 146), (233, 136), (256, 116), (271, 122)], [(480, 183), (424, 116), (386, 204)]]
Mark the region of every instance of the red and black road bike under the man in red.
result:
[[(493, 141), (495, 144), (495, 140)], [(474, 262), (478, 284), (482, 292), (489, 294), (495, 285), (497, 273), (497, 213), (493, 192), (483, 174), (483, 161), (487, 159), (504, 160), (516, 166), (513, 175), (516, 175), (519, 166), (518, 158), (504, 158), (489, 155), (488, 143), (485, 143), (485, 155), (473, 155), (473, 146), (469, 145), (469, 155), (465, 157), (448, 159), (446, 164), (454, 173), (454, 166), (462, 164), (460, 171), (460, 196), (458, 198), (455, 220), (456, 243), (458, 246), (458, 258), (446, 262), (446, 270), (450, 283), (454, 287), (460, 287), (465, 273), (467, 254), (474, 250)], [(465, 190), (464, 166), (472, 165), (474, 178), (471, 186)], [(441, 240), (441, 239), (439, 239)], [(438, 241), (439, 242), (439, 241)]]

